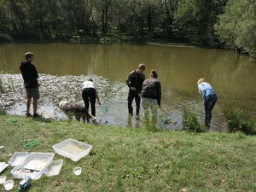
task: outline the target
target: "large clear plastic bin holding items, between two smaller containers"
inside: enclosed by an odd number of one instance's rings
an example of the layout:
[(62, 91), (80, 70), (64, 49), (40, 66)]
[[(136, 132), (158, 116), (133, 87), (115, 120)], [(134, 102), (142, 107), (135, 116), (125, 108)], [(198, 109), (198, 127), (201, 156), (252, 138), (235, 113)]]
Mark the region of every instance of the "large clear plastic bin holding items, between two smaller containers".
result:
[(20, 166), (15, 166), (11, 171), (15, 179), (40, 179), (47, 166), (51, 163), (54, 154), (51, 153), (30, 153)]

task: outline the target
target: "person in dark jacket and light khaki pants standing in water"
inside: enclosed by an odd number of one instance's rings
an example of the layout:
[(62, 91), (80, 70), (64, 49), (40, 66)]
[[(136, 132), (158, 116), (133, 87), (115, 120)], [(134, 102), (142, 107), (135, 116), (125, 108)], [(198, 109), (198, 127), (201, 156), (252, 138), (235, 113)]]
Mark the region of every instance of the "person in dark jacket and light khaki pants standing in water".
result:
[(151, 70), (150, 79), (146, 79), (142, 85), (141, 104), (144, 110), (145, 123), (149, 124), (148, 115), (152, 113), (152, 125), (156, 128), (157, 106), (161, 105), (161, 83), (157, 80), (156, 70)]

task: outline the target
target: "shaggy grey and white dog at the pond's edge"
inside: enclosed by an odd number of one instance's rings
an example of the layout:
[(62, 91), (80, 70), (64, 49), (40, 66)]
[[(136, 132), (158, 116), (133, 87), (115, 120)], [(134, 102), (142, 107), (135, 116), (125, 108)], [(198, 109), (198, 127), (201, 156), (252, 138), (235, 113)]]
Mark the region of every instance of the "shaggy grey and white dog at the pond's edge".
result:
[(72, 120), (73, 116), (75, 116), (77, 121), (80, 121), (81, 118), (83, 122), (85, 122), (86, 119), (92, 119), (93, 122), (96, 121), (95, 116), (90, 115), (87, 109), (81, 104), (62, 100), (59, 104), (59, 108), (68, 116), (69, 120)]

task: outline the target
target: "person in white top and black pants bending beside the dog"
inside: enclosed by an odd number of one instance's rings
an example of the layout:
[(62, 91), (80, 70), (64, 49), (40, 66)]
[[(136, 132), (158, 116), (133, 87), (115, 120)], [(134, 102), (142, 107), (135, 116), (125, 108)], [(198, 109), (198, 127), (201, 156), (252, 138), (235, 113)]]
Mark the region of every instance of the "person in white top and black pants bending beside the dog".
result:
[[(87, 109), (87, 111), (89, 111), (89, 102), (90, 102), (92, 115), (95, 116), (96, 115), (96, 109), (95, 109), (96, 99), (99, 102), (99, 105), (101, 104), (99, 99), (99, 93), (97, 92), (95, 84), (93, 83), (93, 79), (88, 79), (88, 81), (84, 81), (84, 83), (82, 84), (82, 87), (83, 87), (82, 97), (84, 100), (85, 108)], [(87, 118), (86, 121), (89, 122), (90, 120)]]

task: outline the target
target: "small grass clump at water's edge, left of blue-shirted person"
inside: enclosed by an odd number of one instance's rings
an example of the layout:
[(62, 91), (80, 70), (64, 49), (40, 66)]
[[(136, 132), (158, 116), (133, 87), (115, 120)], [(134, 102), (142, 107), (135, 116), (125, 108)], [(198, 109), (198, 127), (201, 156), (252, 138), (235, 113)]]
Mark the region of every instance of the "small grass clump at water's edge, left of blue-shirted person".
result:
[(184, 129), (188, 132), (204, 132), (204, 129), (198, 122), (198, 118), (194, 110), (184, 109), (183, 118)]

